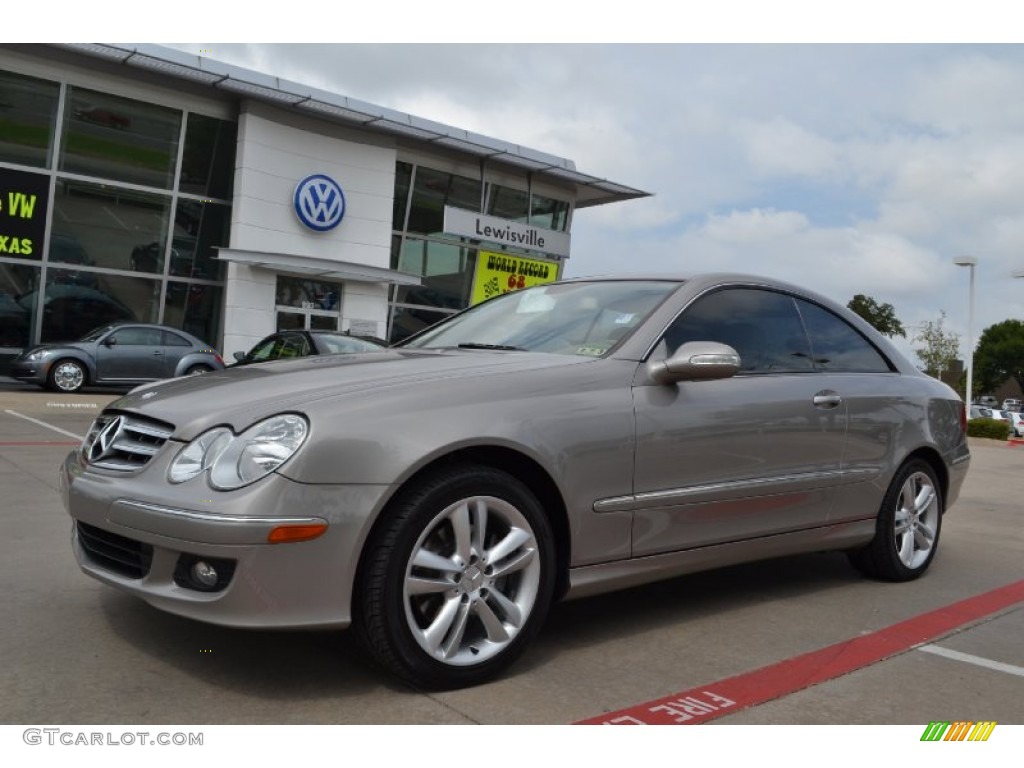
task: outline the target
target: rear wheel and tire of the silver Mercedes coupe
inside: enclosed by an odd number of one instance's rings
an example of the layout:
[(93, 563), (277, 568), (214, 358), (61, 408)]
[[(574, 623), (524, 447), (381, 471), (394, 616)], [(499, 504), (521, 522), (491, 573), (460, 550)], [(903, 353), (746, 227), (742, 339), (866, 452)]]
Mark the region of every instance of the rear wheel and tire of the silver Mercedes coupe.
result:
[(939, 546), (944, 511), (942, 486), (923, 459), (904, 464), (893, 478), (879, 511), (874, 539), (850, 554), (867, 575), (909, 582), (922, 575)]

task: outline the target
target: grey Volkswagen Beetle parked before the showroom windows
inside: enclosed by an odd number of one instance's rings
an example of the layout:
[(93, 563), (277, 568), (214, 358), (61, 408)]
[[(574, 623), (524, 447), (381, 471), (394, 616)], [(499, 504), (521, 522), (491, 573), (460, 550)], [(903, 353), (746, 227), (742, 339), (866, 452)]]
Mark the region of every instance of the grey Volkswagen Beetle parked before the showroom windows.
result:
[(25, 350), (11, 362), (8, 376), (54, 392), (77, 392), (85, 386), (135, 386), (223, 368), (216, 349), (184, 331), (114, 323), (78, 341)]

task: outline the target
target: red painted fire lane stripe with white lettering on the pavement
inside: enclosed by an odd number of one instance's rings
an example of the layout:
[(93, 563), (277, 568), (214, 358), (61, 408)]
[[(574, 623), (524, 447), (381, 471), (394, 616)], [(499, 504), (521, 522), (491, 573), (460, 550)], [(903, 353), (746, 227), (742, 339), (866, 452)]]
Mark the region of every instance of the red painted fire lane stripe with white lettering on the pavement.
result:
[(1024, 581), (922, 613), (891, 627), (575, 725), (696, 725), (770, 701), (894, 656), (964, 625), (1024, 602)]

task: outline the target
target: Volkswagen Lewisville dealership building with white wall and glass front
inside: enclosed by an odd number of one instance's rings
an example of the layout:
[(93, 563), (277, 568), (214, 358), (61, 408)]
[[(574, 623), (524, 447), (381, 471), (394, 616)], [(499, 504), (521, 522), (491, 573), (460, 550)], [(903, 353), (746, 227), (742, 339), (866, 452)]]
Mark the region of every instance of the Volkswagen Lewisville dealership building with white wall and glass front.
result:
[(0, 45), (0, 356), (117, 321), (397, 341), (551, 281), (570, 160), (155, 45)]

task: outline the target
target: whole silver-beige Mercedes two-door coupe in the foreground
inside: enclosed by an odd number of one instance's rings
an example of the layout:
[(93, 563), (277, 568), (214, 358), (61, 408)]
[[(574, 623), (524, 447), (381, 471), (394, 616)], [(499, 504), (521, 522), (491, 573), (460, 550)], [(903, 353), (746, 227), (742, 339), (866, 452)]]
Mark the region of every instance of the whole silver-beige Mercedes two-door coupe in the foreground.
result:
[(351, 628), (443, 689), (506, 670), (554, 600), (820, 551), (923, 575), (966, 424), (824, 296), (579, 279), (390, 349), (128, 393), (60, 488), (88, 575), (218, 625)]

